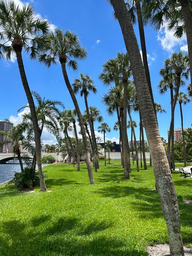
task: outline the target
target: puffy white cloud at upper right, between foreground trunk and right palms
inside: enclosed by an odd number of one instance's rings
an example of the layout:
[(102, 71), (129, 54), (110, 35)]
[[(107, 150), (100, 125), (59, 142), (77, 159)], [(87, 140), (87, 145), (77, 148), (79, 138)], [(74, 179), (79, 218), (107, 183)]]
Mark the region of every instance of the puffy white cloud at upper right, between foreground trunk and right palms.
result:
[(161, 46), (166, 51), (173, 51), (175, 47), (186, 44), (186, 35), (184, 34), (181, 38), (177, 38), (174, 36), (174, 32), (171, 30), (168, 30), (168, 28), (165, 27), (162, 29), (162, 32), (158, 33), (158, 41), (160, 41)]

